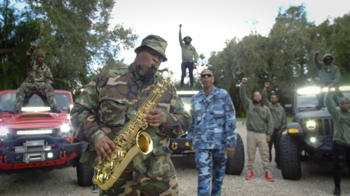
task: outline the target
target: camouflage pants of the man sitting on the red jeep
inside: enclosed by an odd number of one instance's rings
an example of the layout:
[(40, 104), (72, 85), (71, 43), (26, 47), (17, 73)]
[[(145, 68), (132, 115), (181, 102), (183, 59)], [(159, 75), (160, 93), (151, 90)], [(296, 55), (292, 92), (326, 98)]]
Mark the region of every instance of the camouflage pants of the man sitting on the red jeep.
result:
[(26, 95), (29, 95), (35, 90), (37, 90), (42, 95), (45, 95), (47, 97), (47, 102), (51, 108), (57, 107), (56, 98), (54, 96), (54, 90), (51, 85), (49, 87), (46, 87), (45, 82), (37, 82), (37, 83), (23, 82), (22, 84), (20, 84), (20, 86), (17, 88), (16, 102), (14, 103), (14, 106), (17, 108), (21, 108), (23, 105), (24, 97)]

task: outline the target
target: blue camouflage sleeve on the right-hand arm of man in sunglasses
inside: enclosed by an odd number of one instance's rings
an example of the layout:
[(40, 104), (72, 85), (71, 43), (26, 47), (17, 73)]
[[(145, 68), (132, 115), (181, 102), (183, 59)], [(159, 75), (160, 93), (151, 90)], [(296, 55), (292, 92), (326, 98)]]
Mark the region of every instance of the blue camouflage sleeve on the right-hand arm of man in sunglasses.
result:
[(230, 147), (236, 146), (237, 140), (237, 126), (236, 126), (236, 115), (235, 109), (231, 97), (226, 92), (225, 95), (225, 140), (226, 144)]

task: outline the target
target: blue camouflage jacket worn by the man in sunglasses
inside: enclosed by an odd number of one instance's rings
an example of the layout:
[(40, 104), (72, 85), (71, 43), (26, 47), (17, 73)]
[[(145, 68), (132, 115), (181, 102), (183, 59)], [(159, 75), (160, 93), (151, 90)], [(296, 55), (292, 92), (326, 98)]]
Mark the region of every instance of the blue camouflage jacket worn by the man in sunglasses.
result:
[(190, 100), (192, 124), (187, 139), (194, 148), (223, 149), (235, 147), (237, 127), (235, 110), (228, 92), (213, 86), (210, 94), (203, 90)]

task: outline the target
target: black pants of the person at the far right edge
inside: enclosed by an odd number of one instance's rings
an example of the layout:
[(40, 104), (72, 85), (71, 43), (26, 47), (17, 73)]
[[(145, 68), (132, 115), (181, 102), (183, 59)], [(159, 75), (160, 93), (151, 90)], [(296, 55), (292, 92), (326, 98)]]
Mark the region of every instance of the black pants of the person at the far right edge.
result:
[[(350, 146), (342, 145), (333, 141), (333, 155), (334, 155), (334, 167), (333, 167), (333, 179), (335, 187), (340, 187), (341, 169), (347, 162), (347, 166), (350, 167)], [(350, 168), (349, 168), (350, 169)]]

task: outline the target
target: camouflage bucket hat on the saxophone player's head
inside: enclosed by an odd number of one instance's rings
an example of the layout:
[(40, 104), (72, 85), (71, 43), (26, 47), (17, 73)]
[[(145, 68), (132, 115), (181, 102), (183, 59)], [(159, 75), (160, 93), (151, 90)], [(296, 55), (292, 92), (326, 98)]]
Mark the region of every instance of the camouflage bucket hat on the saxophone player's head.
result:
[(141, 45), (136, 47), (134, 51), (136, 52), (136, 50), (143, 45), (148, 46), (154, 49), (155, 51), (159, 52), (163, 56), (163, 59), (161, 60), (162, 62), (167, 60), (165, 56), (165, 48), (167, 46), (167, 42), (165, 39), (161, 38), (158, 35), (150, 34), (142, 39)]

